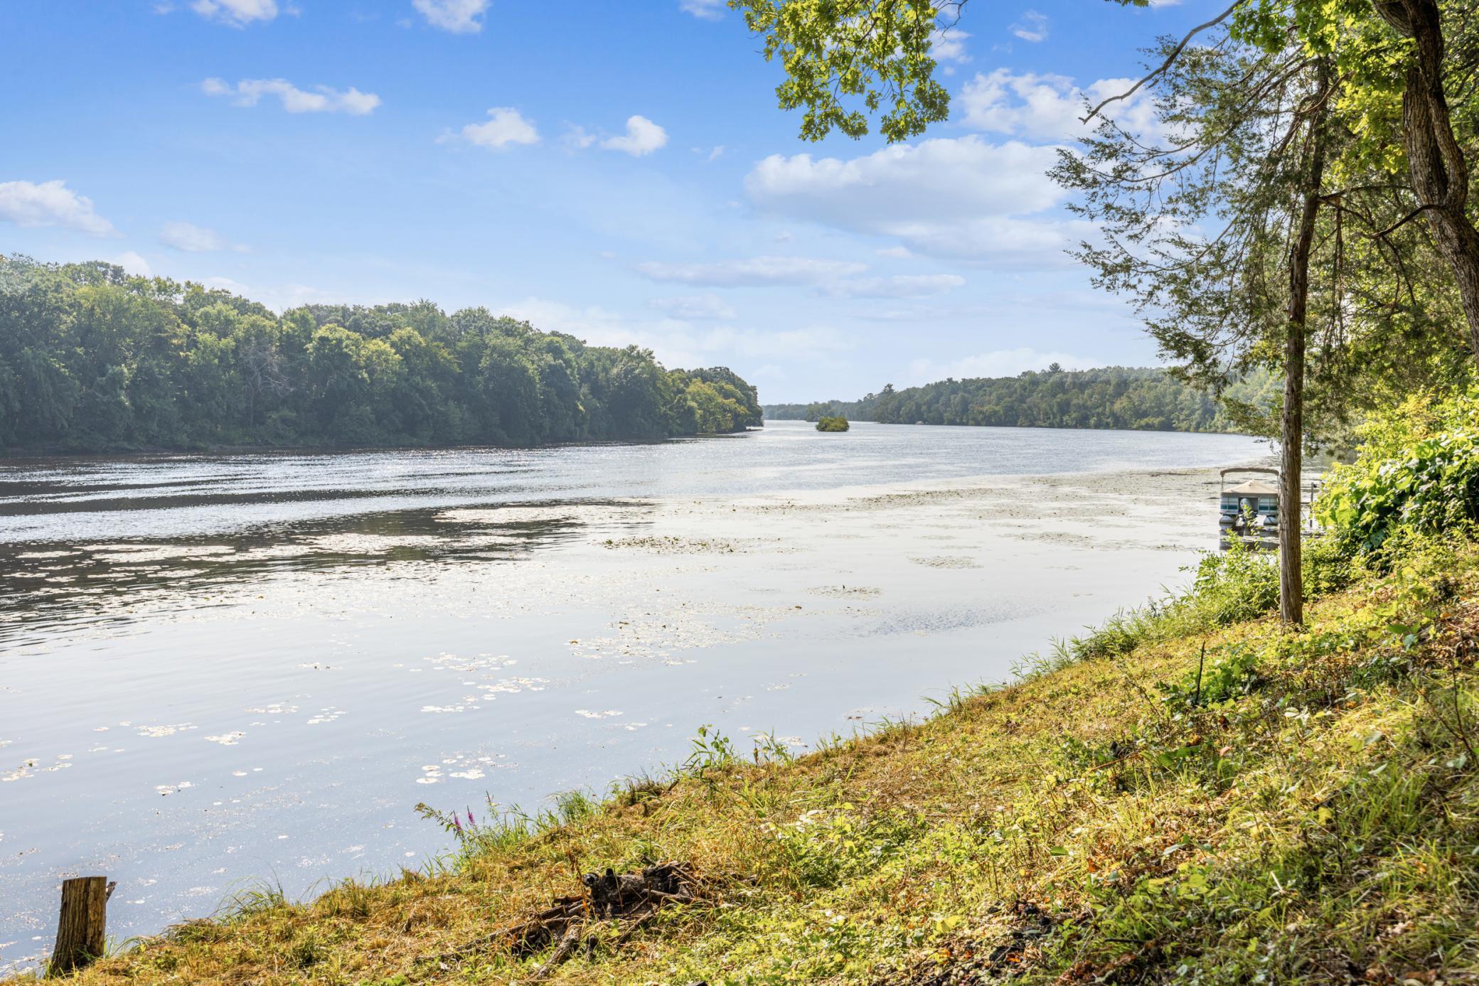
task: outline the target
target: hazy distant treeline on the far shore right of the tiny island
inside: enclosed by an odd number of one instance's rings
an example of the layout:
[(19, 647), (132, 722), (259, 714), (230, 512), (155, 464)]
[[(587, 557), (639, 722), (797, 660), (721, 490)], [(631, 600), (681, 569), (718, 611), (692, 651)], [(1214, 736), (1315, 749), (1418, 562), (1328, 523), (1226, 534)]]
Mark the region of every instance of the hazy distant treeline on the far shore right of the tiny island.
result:
[[(1233, 383), (1223, 396), (1225, 402), (1219, 402), (1164, 370), (1055, 365), (1016, 377), (950, 378), (907, 390), (889, 384), (861, 401), (768, 404), (765, 415), (806, 421), (842, 415), (884, 424), (1231, 432), (1245, 429), (1248, 411), (1266, 409), (1276, 395), (1272, 377), (1254, 374)], [(1235, 418), (1229, 408), (1245, 412)]]

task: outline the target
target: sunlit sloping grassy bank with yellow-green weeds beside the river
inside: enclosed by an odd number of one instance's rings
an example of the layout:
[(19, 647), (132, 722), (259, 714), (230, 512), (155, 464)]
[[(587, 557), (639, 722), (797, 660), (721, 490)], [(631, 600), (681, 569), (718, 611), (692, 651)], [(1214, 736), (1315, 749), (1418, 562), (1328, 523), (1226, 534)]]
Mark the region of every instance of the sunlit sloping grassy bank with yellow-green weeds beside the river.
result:
[(703, 735), (674, 778), (461, 819), (453, 859), (254, 894), (80, 979), (527, 982), (547, 949), (473, 943), (655, 859), (688, 860), (703, 900), (620, 943), (596, 922), (549, 982), (1479, 976), (1479, 556), (1426, 540), (1386, 562), (1316, 553), (1302, 634), (1256, 615), (1259, 560), (1210, 562), (1192, 596), (929, 721), (799, 760)]

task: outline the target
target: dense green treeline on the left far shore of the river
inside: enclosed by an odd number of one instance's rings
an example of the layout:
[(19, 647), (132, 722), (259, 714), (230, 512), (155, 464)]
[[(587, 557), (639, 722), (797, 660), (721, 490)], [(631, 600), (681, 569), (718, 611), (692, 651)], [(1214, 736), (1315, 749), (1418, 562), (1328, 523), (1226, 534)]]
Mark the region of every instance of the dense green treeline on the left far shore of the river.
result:
[(664, 370), (488, 309), (274, 315), (108, 263), (0, 257), (0, 446), (543, 445), (760, 424), (729, 370)]

